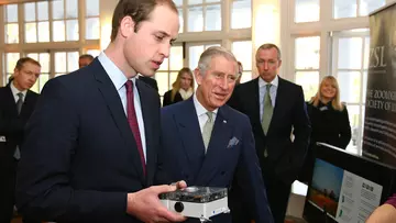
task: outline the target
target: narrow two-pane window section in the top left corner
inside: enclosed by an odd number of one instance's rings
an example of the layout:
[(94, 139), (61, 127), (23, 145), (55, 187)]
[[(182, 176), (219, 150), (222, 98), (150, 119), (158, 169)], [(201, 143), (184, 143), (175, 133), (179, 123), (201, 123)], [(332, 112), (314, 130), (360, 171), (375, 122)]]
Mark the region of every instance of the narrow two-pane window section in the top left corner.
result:
[(19, 43), (18, 4), (4, 7), (4, 42), (7, 44)]

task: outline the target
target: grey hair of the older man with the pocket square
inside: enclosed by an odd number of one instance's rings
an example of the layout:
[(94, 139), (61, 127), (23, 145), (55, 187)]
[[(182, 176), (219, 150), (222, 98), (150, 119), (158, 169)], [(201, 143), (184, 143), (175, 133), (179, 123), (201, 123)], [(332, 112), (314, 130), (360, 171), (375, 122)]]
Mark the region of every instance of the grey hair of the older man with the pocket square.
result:
[(198, 62), (198, 69), (202, 75), (205, 75), (208, 68), (210, 67), (210, 62), (215, 56), (223, 56), (229, 60), (235, 62), (235, 71), (237, 71), (235, 75), (237, 76), (239, 75), (238, 74), (239, 68), (235, 56), (230, 51), (228, 51), (222, 46), (210, 46), (200, 55)]

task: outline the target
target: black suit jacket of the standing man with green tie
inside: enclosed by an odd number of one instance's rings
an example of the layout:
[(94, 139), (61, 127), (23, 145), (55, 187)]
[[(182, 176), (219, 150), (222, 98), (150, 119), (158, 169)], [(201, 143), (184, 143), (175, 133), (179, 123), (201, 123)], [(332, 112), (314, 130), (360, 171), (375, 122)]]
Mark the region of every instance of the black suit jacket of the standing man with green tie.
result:
[[(261, 165), (273, 168), (263, 168), (263, 172), (275, 175), (286, 185), (292, 185), (304, 164), (310, 135), (302, 88), (279, 77), (267, 135), (261, 125), (258, 78), (239, 85), (228, 103), (249, 116)], [(295, 136), (293, 142), (292, 131)], [(265, 148), (267, 157), (264, 157)]]

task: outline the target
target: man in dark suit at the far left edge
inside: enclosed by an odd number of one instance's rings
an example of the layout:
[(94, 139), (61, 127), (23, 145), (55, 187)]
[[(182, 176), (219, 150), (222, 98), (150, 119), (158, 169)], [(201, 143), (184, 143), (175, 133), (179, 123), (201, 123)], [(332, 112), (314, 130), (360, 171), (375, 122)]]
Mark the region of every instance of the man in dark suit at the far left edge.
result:
[(13, 215), (23, 129), (38, 98), (37, 93), (29, 89), (36, 82), (40, 71), (38, 62), (30, 57), (20, 58), (10, 82), (0, 88), (0, 222), (4, 223), (11, 222)]

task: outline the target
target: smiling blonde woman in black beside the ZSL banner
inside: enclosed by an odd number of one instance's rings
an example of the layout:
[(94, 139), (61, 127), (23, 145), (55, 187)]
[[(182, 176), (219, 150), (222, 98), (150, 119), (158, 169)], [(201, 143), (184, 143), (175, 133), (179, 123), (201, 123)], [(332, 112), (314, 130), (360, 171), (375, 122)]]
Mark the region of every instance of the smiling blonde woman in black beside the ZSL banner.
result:
[(300, 181), (309, 181), (315, 163), (316, 143), (327, 143), (345, 149), (351, 141), (351, 125), (345, 104), (340, 101), (340, 88), (337, 79), (326, 76), (319, 90), (307, 102), (307, 111), (311, 122), (310, 146), (300, 174)]

